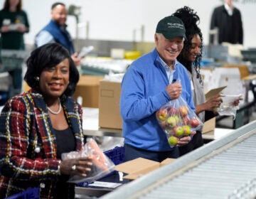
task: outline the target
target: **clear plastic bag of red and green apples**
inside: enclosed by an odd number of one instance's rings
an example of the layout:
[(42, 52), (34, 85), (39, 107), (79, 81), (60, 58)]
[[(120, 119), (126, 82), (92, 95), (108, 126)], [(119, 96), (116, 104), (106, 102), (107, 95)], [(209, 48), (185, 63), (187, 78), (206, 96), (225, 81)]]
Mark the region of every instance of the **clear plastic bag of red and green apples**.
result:
[(201, 129), (203, 122), (182, 97), (167, 102), (156, 112), (156, 119), (166, 133), (171, 147), (176, 146), (183, 136)]

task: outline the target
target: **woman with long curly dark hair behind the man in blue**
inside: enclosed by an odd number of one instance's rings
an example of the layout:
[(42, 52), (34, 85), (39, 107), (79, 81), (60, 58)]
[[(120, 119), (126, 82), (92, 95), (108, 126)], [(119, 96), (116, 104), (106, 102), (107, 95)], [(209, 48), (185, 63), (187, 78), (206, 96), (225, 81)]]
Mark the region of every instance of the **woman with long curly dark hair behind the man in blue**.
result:
[[(217, 114), (216, 112), (213, 112), (213, 110), (220, 107), (222, 99), (218, 94), (206, 101), (206, 97), (203, 92), (203, 79), (200, 74), (200, 63), (203, 52), (203, 35), (201, 33), (201, 29), (197, 25), (200, 18), (196, 12), (188, 6), (178, 9), (173, 15), (181, 18), (186, 28), (187, 39), (184, 41), (183, 50), (181, 51), (181, 54), (178, 55), (177, 59), (188, 70), (188, 75), (191, 79), (193, 102), (196, 107), (196, 114), (200, 117), (202, 122), (204, 122), (206, 120), (206, 116), (214, 117), (215, 114)], [(200, 146), (203, 146), (201, 130), (196, 132), (188, 145), (179, 147), (180, 154), (186, 154)]]

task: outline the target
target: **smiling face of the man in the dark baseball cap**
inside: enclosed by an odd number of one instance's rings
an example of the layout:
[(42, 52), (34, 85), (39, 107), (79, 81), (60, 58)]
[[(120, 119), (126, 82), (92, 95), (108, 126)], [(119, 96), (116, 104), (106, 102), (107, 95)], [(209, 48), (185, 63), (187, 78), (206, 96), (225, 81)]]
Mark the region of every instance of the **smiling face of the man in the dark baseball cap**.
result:
[(164, 62), (171, 66), (183, 48), (183, 38), (166, 39), (161, 33), (155, 34), (156, 50)]

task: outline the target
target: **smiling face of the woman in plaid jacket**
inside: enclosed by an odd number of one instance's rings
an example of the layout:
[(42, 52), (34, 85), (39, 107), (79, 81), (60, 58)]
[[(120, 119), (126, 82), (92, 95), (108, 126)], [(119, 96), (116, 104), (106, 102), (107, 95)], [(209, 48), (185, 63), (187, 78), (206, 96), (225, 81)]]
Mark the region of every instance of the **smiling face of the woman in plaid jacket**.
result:
[(39, 78), (39, 87), (44, 96), (55, 99), (63, 95), (70, 77), (68, 58), (51, 68), (44, 68)]

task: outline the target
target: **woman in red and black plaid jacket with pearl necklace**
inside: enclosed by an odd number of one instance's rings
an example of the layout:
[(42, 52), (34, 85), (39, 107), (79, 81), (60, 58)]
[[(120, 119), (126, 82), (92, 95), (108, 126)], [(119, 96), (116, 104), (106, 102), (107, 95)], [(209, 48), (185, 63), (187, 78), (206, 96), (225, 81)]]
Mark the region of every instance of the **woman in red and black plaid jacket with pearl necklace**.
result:
[(9, 99), (0, 114), (0, 198), (40, 188), (40, 198), (75, 198), (72, 174), (86, 176), (91, 158), (61, 161), (84, 143), (82, 107), (70, 97), (79, 72), (62, 45), (33, 50), (24, 80), (31, 87)]

